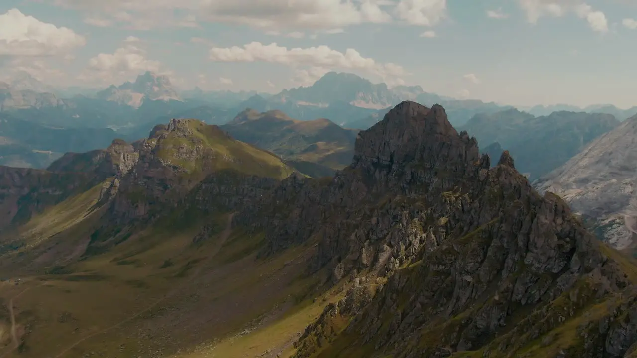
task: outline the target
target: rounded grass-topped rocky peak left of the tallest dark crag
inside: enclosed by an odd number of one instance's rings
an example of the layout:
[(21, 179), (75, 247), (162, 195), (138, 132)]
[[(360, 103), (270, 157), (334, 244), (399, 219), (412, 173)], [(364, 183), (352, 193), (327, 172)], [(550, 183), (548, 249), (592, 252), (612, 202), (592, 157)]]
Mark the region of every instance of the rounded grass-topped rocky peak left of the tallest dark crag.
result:
[(173, 118), (167, 125), (155, 126), (147, 140), (132, 148), (138, 159), (119, 178), (111, 207), (119, 224), (176, 206), (197, 183), (217, 171), (235, 169), (269, 178), (292, 172), (275, 155), (198, 120)]

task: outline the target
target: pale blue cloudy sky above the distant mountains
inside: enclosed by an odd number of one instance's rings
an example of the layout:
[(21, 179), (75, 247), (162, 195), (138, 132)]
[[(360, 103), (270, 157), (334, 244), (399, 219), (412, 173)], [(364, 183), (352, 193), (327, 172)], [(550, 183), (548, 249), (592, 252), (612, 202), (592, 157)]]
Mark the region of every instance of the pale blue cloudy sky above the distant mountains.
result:
[(637, 105), (637, 0), (2, 0), (0, 77), (275, 93), (327, 71), (500, 104)]

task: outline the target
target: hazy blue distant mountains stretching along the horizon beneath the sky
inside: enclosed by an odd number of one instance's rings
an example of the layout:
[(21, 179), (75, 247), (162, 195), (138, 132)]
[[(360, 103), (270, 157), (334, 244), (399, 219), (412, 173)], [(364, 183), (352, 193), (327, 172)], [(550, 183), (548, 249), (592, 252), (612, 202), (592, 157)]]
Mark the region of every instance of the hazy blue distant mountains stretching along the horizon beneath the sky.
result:
[[(494, 136), (485, 133), (495, 134), (501, 131), (499, 127), (501, 127), (502, 122), (492, 122), (489, 125), (471, 129), (472, 124), (469, 120), (472, 117), (478, 115), (479, 118), (490, 115), (500, 117), (501, 121), (508, 120), (511, 123), (518, 123), (516, 117), (521, 115), (519, 111), (507, 111), (509, 106), (440, 97), (424, 92), (419, 86), (389, 88), (384, 83), (374, 84), (351, 73), (336, 72), (327, 73), (310, 87), (283, 90), (275, 95), (257, 94), (254, 91), (233, 93), (195, 90), (183, 92), (175, 89), (167, 76), (155, 75), (150, 71), (139, 75), (134, 82), (126, 82), (118, 86), (111, 85), (97, 93), (85, 92), (83, 95), (70, 99), (61, 99), (50, 92), (38, 92), (45, 89), (52, 90), (52, 88), (26, 73), (22, 73), (11, 84), (5, 83), (1, 88), (3, 89), (0, 89), (2, 103), (0, 109), (9, 116), (5, 116), (6, 118), (36, 122), (38, 125), (44, 126), (43, 128), (94, 128), (99, 129), (97, 132), (103, 133), (99, 136), (103, 136), (104, 140), (94, 141), (92, 147), (82, 147), (81, 145), (65, 147), (66, 150), (75, 152), (103, 148), (105, 143), (116, 137), (131, 141), (144, 138), (155, 124), (167, 122), (173, 117), (199, 118), (209, 124), (225, 124), (246, 109), (261, 113), (278, 110), (290, 118), (301, 121), (327, 118), (343, 127), (366, 129), (382, 118), (387, 108), (403, 99), (419, 101), (429, 106), (438, 103), (445, 106), (452, 124), (464, 126), (472, 135), (477, 136), (481, 143), (487, 144), (497, 140), (494, 139)], [(572, 106), (568, 108), (576, 110)], [(545, 108), (545, 110), (548, 111), (550, 108)], [(624, 120), (624, 117), (631, 113), (631, 110), (622, 111), (613, 106), (592, 106), (587, 110), (590, 113), (608, 113), (619, 116), (615, 117), (618, 120)], [(531, 113), (543, 113), (538, 108), (530, 111)], [(583, 114), (580, 116), (585, 117)], [(535, 127), (529, 122), (531, 127), (519, 127), (518, 130), (520, 133), (529, 130), (538, 133), (533, 134), (533, 136), (543, 136), (546, 131), (554, 133), (550, 131), (552, 120), (557, 120), (557, 117), (548, 116), (546, 121), (538, 120), (538, 125)], [(559, 122), (559, 125), (566, 125), (562, 119), (559, 119)], [(548, 127), (546, 125), (541, 127), (541, 123), (545, 123)], [(569, 123), (571, 123), (569, 125), (575, 126), (589, 125), (585, 122), (580, 124), (577, 121)], [(116, 132), (108, 131), (106, 128), (115, 129)], [(569, 131), (569, 127), (562, 128), (562, 131)], [(507, 138), (515, 141), (515, 145), (522, 146), (522, 149), (513, 148), (513, 143), (509, 145), (506, 141), (501, 145), (510, 149), (514, 157), (519, 157), (519, 165), (523, 171), (531, 173), (531, 176), (536, 178), (536, 175), (543, 175), (563, 164), (564, 161), (575, 155), (583, 144), (610, 129), (611, 127), (608, 125), (591, 127), (590, 130), (581, 129), (589, 132), (586, 132), (579, 140), (579, 144), (574, 142), (569, 150), (560, 152), (559, 156), (547, 159), (547, 161), (534, 161), (530, 157), (524, 159), (524, 155), (527, 155), (525, 153), (533, 152), (533, 149), (529, 147), (533, 144), (513, 139), (516, 138), (516, 135), (507, 135)], [(47, 129), (42, 130), (46, 131)], [(6, 133), (6, 130), (4, 132)], [(55, 133), (57, 132), (50, 133), (51, 139), (49, 141), (66, 141), (63, 136), (57, 136)], [(5, 164), (45, 168), (63, 153), (59, 150), (59, 145), (48, 145), (47, 143), (33, 145), (32, 143), (22, 143), (21, 138), (12, 138), (6, 134), (4, 137), (6, 138), (4, 143), (13, 143), (13, 147), (0, 147), (3, 157), (1, 162)], [(536, 141), (535, 139), (529, 140)], [(539, 137), (538, 140), (540, 140)], [(546, 140), (546, 138), (541, 140)], [(74, 142), (77, 141), (70, 141), (70, 143)], [(22, 143), (22, 147), (15, 147), (15, 143)], [(36, 154), (40, 152), (46, 152), (48, 156), (43, 157)], [(542, 158), (541, 154), (540, 158)], [(527, 168), (525, 163), (533, 161), (536, 162), (534, 165), (545, 168)], [(551, 161), (554, 164), (550, 164)]]

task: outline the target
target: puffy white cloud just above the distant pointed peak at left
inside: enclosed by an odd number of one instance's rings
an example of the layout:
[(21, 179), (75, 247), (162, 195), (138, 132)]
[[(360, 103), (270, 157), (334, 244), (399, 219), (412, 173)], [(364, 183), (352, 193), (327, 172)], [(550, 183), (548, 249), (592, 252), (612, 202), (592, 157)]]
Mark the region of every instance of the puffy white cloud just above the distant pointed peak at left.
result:
[(142, 48), (125, 45), (115, 50), (113, 54), (98, 54), (89, 59), (89, 64), (79, 78), (119, 83), (130, 80), (143, 71), (168, 73), (162, 70), (161, 62), (147, 59), (146, 52)]

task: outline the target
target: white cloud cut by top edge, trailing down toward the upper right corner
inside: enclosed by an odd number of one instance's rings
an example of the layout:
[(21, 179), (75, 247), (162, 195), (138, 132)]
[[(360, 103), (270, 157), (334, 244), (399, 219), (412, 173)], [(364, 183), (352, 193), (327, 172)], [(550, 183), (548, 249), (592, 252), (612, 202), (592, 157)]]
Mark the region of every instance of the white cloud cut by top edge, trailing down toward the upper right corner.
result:
[(608, 20), (601, 11), (582, 0), (519, 0), (522, 10), (526, 12), (528, 22), (536, 24), (541, 17), (562, 17), (567, 13), (575, 13), (589, 24), (590, 29), (597, 32), (608, 32)]

